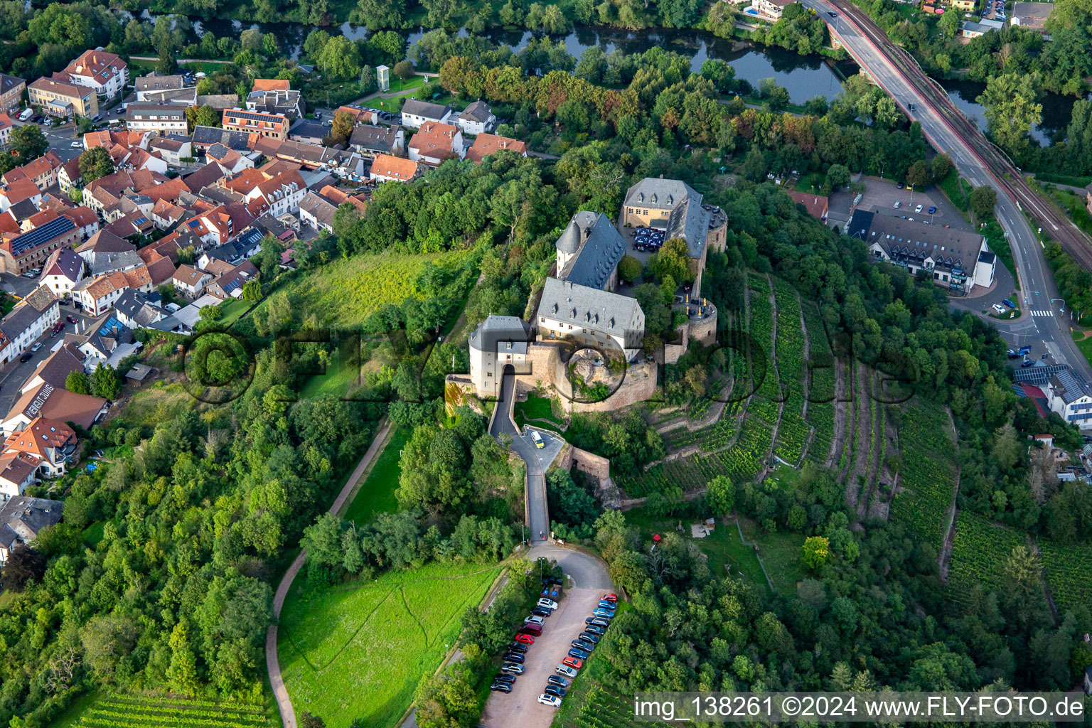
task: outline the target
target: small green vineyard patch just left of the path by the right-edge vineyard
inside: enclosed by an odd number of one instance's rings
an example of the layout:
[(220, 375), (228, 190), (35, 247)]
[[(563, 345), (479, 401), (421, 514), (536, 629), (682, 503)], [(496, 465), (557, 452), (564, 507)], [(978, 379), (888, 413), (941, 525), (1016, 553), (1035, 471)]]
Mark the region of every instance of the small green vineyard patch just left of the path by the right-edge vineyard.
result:
[(1026, 542), (1021, 533), (993, 524), (974, 513), (960, 511), (948, 570), (952, 596), (958, 600), (964, 599), (976, 584), (987, 590), (1001, 588), (1005, 585), (1005, 560), (1013, 547)]

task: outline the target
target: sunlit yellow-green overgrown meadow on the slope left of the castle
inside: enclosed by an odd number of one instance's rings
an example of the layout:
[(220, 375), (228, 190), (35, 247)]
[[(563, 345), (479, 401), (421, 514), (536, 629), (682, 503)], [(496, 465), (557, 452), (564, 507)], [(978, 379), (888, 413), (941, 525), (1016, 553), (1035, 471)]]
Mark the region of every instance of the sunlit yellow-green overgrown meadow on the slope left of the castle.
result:
[[(427, 255), (402, 255), (384, 252), (339, 258), (319, 272), (298, 274), (274, 291), (284, 291), (297, 311), (319, 312), (319, 323), (351, 326), (363, 323), (376, 309), (388, 303), (397, 306), (407, 297), (420, 297), (417, 276), (426, 263), (435, 263), (449, 281), (444, 291), (452, 300), (462, 300), (463, 290), (473, 282), (463, 272), (471, 262), (470, 253), (453, 251)], [(462, 275), (460, 275), (462, 273)], [(268, 306), (268, 299), (262, 306)]]

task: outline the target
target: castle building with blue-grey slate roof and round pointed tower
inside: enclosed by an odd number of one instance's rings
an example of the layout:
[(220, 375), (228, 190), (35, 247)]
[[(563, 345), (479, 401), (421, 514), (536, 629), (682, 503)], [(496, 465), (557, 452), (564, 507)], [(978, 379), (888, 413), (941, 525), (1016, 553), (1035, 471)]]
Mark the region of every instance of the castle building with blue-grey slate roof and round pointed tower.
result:
[(600, 290), (618, 287), (626, 241), (609, 217), (578, 212), (557, 239), (557, 278)]

